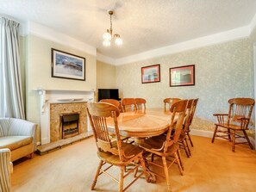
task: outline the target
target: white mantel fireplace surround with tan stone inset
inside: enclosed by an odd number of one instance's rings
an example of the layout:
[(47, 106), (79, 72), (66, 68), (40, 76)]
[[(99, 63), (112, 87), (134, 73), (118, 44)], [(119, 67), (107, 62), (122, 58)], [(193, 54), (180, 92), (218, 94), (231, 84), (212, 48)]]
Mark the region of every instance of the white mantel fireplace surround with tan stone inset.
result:
[[(38, 145), (62, 140), (61, 115), (78, 114), (78, 135), (91, 132), (87, 121), (86, 103), (94, 101), (94, 90), (36, 89), (41, 99), (41, 140)], [(70, 134), (72, 134), (70, 130)], [(61, 137), (60, 137), (61, 134)], [(66, 134), (65, 135), (69, 135)]]

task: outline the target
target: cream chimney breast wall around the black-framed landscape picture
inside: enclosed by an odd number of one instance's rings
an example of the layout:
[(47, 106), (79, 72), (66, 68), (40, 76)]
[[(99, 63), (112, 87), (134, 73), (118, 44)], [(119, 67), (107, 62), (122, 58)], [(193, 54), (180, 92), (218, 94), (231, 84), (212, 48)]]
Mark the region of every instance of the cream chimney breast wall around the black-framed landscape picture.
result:
[[(40, 124), (40, 97), (35, 89), (96, 90), (96, 56), (29, 34), (25, 38), (27, 119)], [(85, 81), (51, 77), (51, 48), (76, 54), (85, 60)]]

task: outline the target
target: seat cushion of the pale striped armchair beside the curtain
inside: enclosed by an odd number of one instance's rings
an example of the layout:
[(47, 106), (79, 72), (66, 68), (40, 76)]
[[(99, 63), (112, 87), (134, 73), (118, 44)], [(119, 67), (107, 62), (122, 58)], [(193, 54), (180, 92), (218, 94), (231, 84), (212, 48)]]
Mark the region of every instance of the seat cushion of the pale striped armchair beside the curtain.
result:
[(10, 151), (16, 150), (33, 142), (29, 136), (8, 136), (0, 138), (0, 149), (9, 148)]

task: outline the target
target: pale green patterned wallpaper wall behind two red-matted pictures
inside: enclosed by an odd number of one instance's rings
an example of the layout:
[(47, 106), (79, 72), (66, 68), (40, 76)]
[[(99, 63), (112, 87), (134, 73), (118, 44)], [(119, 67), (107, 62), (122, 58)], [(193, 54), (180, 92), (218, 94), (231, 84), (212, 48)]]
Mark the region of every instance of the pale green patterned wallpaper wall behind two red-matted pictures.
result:
[[(165, 97), (198, 97), (192, 128), (212, 131), (213, 114), (228, 113), (229, 98), (253, 97), (252, 49), (247, 38), (120, 65), (116, 68), (116, 84), (122, 97), (147, 99), (147, 108), (163, 107)], [(141, 67), (154, 64), (160, 64), (161, 81), (141, 84)], [(169, 68), (181, 65), (196, 66), (195, 86), (169, 86)], [(254, 135), (253, 130), (250, 135)]]

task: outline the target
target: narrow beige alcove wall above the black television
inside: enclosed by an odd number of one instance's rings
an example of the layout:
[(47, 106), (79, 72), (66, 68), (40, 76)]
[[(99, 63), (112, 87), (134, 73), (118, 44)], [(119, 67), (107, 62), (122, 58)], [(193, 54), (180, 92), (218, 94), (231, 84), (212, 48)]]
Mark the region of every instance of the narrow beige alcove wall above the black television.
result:
[[(97, 60), (97, 89), (116, 88), (116, 66)], [(97, 97), (97, 94), (96, 94)], [(97, 101), (97, 98), (96, 98)]]

